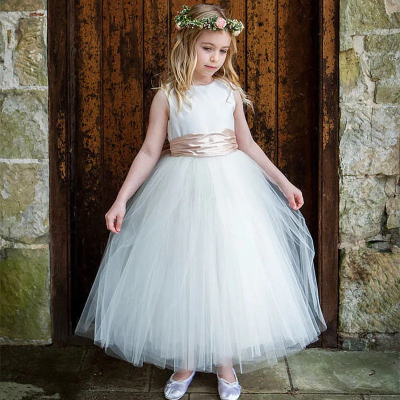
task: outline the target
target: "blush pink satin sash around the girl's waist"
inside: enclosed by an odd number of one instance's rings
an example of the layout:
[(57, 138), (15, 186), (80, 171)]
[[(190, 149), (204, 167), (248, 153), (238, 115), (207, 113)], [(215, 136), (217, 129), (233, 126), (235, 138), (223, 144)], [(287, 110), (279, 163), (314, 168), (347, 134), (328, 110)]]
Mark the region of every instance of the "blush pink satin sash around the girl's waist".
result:
[(187, 133), (169, 141), (169, 149), (173, 157), (184, 155), (189, 157), (207, 157), (212, 155), (229, 154), (237, 150), (234, 130), (223, 129), (211, 133)]

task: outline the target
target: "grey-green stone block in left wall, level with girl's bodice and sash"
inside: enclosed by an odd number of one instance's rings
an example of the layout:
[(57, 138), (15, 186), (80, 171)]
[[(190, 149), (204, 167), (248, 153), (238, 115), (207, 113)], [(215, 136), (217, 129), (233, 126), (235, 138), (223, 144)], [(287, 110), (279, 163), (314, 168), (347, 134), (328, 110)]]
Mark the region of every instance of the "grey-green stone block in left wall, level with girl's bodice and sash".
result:
[(47, 90), (0, 92), (0, 157), (48, 158)]

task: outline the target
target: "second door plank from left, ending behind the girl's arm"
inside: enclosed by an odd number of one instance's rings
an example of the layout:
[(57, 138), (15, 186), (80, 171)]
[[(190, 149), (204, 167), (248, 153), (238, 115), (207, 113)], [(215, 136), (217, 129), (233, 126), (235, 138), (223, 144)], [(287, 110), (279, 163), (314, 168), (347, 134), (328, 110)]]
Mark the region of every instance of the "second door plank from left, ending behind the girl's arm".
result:
[(105, 214), (142, 143), (143, 9), (141, 0), (103, 2), (102, 178)]

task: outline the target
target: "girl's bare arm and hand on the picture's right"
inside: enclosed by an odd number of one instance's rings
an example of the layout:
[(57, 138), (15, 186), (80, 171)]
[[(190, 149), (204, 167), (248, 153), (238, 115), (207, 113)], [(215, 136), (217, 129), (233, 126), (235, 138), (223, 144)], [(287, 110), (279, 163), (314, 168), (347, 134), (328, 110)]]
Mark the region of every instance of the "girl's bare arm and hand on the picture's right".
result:
[(234, 91), (234, 99), (236, 103), (233, 112), (234, 131), (238, 149), (252, 158), (276, 182), (280, 190), (282, 190), (287, 197), (291, 208), (300, 208), (304, 203), (300, 189), (290, 183), (286, 176), (273, 164), (252, 138), (244, 115), (243, 102), (238, 90)]

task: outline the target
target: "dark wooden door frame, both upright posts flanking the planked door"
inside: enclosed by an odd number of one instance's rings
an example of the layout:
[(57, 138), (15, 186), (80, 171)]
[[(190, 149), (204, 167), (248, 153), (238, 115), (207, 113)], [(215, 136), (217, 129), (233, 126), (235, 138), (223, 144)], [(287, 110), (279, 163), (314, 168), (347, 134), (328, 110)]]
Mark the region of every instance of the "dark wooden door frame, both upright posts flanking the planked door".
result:
[[(70, 183), (75, 101), (73, 0), (47, 2), (51, 337), (58, 345), (88, 344), (69, 335)], [(337, 347), (338, 323), (338, 0), (318, 0), (318, 287), (327, 330), (316, 342)]]

